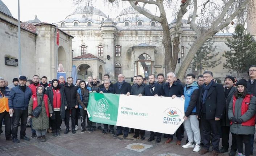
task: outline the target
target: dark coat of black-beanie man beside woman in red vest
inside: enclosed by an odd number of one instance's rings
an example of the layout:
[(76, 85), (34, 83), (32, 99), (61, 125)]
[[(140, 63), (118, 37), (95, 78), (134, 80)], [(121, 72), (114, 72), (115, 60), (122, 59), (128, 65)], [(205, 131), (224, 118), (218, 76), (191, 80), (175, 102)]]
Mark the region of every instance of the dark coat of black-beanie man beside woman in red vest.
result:
[[(226, 89), (227, 88), (225, 88), (224, 91)], [(230, 120), (228, 119), (228, 105), (229, 105), (232, 97), (234, 96), (235, 92), (236, 92), (236, 87), (232, 87), (230, 92), (228, 93), (228, 96), (226, 98), (226, 105), (224, 105), (223, 118), (220, 120), (221, 126), (228, 126), (228, 127), (230, 127)]]

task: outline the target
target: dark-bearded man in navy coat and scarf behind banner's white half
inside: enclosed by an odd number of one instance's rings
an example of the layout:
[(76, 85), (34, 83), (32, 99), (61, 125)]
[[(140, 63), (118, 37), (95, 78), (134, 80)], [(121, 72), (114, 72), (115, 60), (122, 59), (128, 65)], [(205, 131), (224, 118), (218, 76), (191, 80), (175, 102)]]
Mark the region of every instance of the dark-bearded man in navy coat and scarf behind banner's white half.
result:
[[(145, 86), (145, 96), (164, 96), (164, 89), (162, 85), (155, 82), (155, 76), (153, 74), (148, 76), (149, 85)], [(161, 142), (162, 133), (156, 132), (156, 143)], [(148, 142), (154, 140), (154, 132), (150, 131), (150, 138)]]

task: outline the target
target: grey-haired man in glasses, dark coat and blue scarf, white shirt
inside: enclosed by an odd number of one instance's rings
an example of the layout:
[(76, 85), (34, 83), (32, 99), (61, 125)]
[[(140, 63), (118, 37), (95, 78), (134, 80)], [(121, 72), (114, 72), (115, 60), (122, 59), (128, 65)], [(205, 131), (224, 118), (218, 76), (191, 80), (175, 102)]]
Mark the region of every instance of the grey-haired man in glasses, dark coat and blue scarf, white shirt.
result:
[[(203, 72), (203, 87), (199, 88), (199, 99), (202, 127), (203, 127), (203, 149), (200, 154), (209, 152), (210, 138), (212, 134), (212, 153), (211, 156), (217, 156), (219, 152), (220, 141), (220, 119), (223, 115), (225, 103), (225, 93), (221, 84), (215, 83), (212, 79), (212, 72)], [(197, 108), (198, 109), (198, 108)]]

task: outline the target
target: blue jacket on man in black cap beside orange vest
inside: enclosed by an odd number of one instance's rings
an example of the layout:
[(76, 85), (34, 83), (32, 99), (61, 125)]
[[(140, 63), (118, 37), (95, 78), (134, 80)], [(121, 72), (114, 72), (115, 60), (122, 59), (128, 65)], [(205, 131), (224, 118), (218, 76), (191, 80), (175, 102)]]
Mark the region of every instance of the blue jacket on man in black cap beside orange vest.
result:
[(31, 96), (32, 96), (32, 91), (29, 87), (26, 87), (25, 92), (23, 92), (20, 89), (19, 85), (16, 87), (13, 87), (11, 89), (9, 99), (8, 99), (9, 109), (20, 109), (20, 110), (28, 109), (28, 103)]

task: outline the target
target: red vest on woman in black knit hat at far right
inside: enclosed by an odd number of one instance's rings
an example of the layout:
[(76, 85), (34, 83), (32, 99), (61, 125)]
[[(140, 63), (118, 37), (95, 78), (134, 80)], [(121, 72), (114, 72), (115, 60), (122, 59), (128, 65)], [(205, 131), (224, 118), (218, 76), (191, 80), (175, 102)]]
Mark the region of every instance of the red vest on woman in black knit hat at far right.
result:
[[(248, 110), (251, 97), (252, 97), (252, 94), (247, 94), (244, 97), (241, 104), (241, 115), (244, 115), (244, 113)], [(236, 97), (233, 96), (233, 114), (234, 115), (235, 115), (235, 104), (236, 104)], [(255, 126), (255, 117), (256, 115), (253, 115), (253, 117), (248, 121), (242, 122), (242, 126)], [(230, 125), (232, 125), (232, 121), (230, 122)]]

